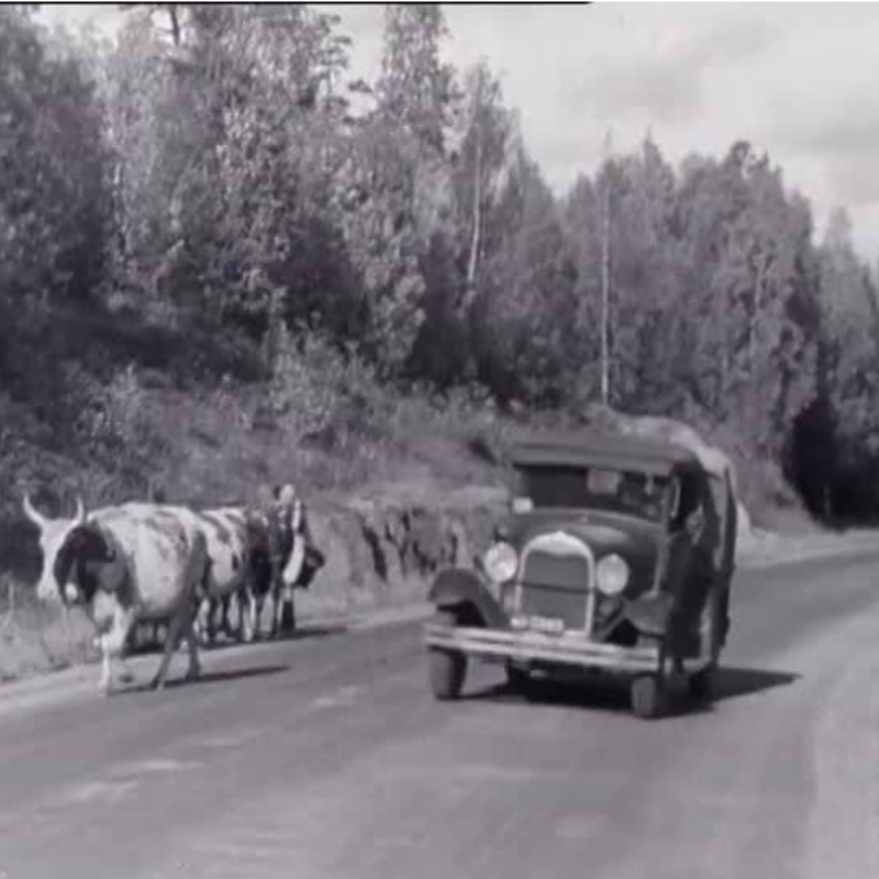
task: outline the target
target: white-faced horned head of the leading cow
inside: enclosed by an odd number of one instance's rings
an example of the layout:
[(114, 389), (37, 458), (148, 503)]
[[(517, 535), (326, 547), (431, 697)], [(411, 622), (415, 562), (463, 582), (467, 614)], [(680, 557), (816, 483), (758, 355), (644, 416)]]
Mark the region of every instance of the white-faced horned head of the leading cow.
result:
[(36, 586), (41, 601), (60, 598), (65, 603), (89, 600), (97, 588), (88, 576), (89, 563), (107, 564), (115, 553), (99, 526), (88, 521), (82, 500), (77, 498), (73, 519), (49, 519), (37, 512), (27, 494), (24, 514), (40, 528), (43, 568)]

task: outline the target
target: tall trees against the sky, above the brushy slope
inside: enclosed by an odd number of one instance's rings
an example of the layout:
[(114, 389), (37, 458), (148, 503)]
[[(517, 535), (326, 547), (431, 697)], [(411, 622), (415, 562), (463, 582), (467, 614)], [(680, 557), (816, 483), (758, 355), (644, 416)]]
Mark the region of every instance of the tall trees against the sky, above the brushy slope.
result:
[(316, 337), (382, 382), (583, 411), (607, 199), (611, 404), (783, 461), (814, 512), (879, 500), (875, 278), (748, 143), (675, 168), (647, 137), (559, 199), (496, 73), (443, 62), (437, 4), (386, 8), (375, 82), (304, 4), (123, 5), (112, 45), (0, 9), (7, 393), (47, 381), (16, 340), (121, 298), (266, 375)]

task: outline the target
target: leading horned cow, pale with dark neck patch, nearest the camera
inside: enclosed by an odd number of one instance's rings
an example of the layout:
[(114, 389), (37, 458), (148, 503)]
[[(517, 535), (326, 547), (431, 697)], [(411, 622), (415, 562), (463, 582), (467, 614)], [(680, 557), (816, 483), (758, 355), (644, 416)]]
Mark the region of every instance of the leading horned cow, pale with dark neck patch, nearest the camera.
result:
[(186, 639), (187, 680), (201, 672), (194, 616), (209, 569), (203, 535), (189, 533), (155, 504), (124, 503), (87, 514), (77, 498), (73, 519), (49, 519), (23, 499), (24, 514), (40, 530), (43, 567), (40, 600), (82, 605), (97, 631), (101, 652), (100, 692), (109, 694), (113, 660), (131, 679), (125, 650), (135, 624), (167, 622), (168, 635), (151, 682), (164, 688), (171, 657)]

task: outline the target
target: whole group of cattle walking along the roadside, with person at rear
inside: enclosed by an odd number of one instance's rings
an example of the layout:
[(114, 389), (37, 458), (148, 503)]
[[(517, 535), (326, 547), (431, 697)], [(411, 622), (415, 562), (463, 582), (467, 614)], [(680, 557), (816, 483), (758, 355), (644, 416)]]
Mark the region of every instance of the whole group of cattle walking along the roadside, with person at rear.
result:
[(192, 678), (200, 674), (199, 645), (213, 643), (220, 631), (248, 642), (260, 637), (267, 600), (269, 637), (293, 627), (292, 590), (308, 588), (325, 561), (290, 485), (264, 491), (254, 505), (210, 510), (129, 502), (87, 513), (78, 499), (71, 519), (52, 519), (27, 494), (23, 509), (40, 530), (37, 598), (86, 610), (97, 632), (104, 693), (113, 660), (122, 665), (122, 679), (131, 680), (125, 655), (145, 628), (164, 632), (152, 682), (160, 689), (182, 642)]

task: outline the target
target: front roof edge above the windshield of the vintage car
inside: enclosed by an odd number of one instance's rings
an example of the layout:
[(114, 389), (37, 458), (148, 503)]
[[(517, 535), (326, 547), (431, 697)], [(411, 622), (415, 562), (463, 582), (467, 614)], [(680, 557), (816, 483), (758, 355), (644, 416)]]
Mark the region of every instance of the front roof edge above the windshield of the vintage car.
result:
[(703, 471), (694, 452), (670, 439), (596, 429), (522, 434), (509, 457), (514, 467), (597, 465), (655, 475)]

